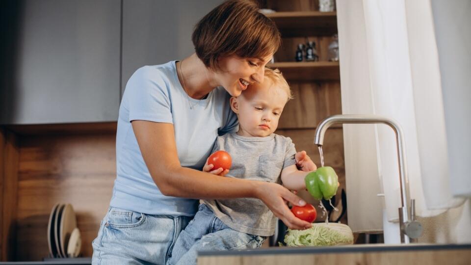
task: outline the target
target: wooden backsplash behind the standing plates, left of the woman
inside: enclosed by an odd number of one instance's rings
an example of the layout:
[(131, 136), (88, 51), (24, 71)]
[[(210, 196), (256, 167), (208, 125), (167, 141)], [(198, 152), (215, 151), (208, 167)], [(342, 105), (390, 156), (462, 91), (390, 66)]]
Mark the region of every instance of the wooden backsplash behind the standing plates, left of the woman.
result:
[(16, 260), (48, 256), (47, 227), (55, 203), (77, 213), (83, 256), (109, 206), (116, 178), (115, 133), (24, 136), (20, 144)]

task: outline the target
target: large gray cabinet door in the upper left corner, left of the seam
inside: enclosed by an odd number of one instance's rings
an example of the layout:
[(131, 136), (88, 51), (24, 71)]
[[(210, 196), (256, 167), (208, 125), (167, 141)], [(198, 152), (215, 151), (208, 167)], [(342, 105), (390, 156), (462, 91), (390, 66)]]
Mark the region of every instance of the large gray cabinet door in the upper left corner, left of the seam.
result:
[(116, 121), (121, 1), (2, 0), (0, 124)]

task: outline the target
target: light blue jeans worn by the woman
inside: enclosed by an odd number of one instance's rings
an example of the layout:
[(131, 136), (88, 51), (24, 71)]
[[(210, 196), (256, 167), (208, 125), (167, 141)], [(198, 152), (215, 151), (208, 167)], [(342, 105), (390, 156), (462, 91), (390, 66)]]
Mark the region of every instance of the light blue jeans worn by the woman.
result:
[(93, 265), (167, 264), (192, 217), (150, 215), (109, 208), (93, 240)]

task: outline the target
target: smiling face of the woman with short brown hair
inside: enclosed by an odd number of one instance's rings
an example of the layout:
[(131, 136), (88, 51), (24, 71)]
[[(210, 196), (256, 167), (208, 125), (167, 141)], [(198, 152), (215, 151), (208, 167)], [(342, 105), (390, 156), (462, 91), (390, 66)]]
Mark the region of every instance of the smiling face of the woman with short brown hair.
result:
[(264, 58), (221, 57), (221, 70), (215, 73), (215, 79), (231, 96), (237, 97), (248, 85), (262, 82), (265, 65), (272, 57), (273, 54)]

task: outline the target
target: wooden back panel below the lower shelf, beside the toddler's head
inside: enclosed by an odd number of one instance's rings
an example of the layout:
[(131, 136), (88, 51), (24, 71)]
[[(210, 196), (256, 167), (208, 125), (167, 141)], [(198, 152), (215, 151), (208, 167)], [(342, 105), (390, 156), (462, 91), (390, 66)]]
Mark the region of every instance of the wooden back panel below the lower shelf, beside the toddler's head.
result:
[(314, 129), (322, 119), (341, 114), (339, 82), (289, 82), (289, 84), (294, 99), (288, 101), (285, 106), (280, 117), (279, 129)]

